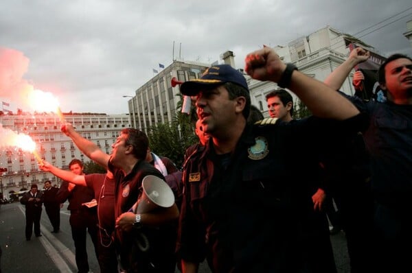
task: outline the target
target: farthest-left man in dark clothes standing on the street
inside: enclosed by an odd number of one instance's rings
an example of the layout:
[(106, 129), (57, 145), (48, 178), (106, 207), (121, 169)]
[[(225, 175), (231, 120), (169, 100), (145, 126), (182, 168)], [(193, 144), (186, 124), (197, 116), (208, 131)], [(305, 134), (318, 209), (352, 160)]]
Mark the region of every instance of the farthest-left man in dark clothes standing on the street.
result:
[(42, 211), (41, 206), (43, 206), (43, 194), (41, 193), (41, 191), (38, 191), (36, 184), (32, 184), (30, 191), (27, 191), (27, 193), (22, 196), (20, 202), (21, 204), (25, 205), (26, 240), (30, 241), (30, 239), (32, 238), (33, 226), (34, 235), (36, 235), (36, 237), (41, 237), (40, 218)]

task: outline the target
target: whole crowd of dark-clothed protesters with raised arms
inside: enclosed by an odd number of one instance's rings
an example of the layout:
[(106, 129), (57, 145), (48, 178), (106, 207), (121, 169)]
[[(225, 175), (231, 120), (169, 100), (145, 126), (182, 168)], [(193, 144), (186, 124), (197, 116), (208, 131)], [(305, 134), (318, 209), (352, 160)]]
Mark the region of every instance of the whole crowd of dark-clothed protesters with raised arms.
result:
[[(140, 130), (122, 130), (109, 155), (64, 123), (62, 132), (110, 176), (94, 179), (40, 163), (66, 183), (64, 197), (58, 198), (62, 189), (53, 193), (54, 212), (47, 209), (53, 232), (60, 228), (60, 203), (84, 187), (93, 192), (77, 202), (79, 207), (73, 205), (71, 214), (95, 215), (88, 217), (95, 225), (95, 254), (110, 257), (99, 259), (102, 272), (174, 272), (177, 267), (194, 273), (206, 260), (212, 272), (330, 273), (336, 265), (327, 213), (328, 201), (334, 200), (352, 273), (410, 268), (412, 59), (394, 54), (382, 63), (378, 82), (385, 99), (365, 101), (341, 93), (352, 69), (368, 58), (365, 49), (353, 49), (319, 82), (285, 64), (270, 47), (248, 54), (244, 71), (279, 86), (266, 96), (271, 116), (266, 119), (251, 105), (244, 75), (228, 64), (183, 82), (180, 91), (192, 97), (198, 115), (194, 132), (200, 142), (188, 147), (182, 169), (153, 153)], [(357, 94), (362, 80), (356, 73)], [(292, 118), (289, 91), (312, 115)], [(142, 211), (148, 179), (153, 184), (163, 180), (174, 202)], [(33, 225), (36, 237), (41, 236), (45, 200), (36, 189), (32, 185), (21, 199), (27, 241)], [(111, 215), (98, 213), (104, 196), (111, 196)], [(102, 224), (103, 219), (110, 223)], [(78, 256), (84, 245), (76, 240), (83, 241), (92, 228), (80, 235), (74, 224), (71, 220), (76, 262), (79, 272), (87, 272), (87, 253)], [(102, 236), (102, 230), (111, 234)], [(107, 256), (104, 241), (111, 246)]]

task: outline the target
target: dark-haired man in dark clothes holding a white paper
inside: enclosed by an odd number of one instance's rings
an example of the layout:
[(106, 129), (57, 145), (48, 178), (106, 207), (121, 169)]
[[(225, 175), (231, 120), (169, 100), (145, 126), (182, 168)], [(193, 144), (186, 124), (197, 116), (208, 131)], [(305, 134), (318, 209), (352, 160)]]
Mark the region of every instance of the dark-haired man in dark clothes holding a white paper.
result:
[[(83, 163), (78, 159), (73, 159), (69, 163), (69, 169), (73, 174), (84, 176)], [(91, 202), (94, 198), (94, 193), (91, 189), (84, 186), (76, 186), (63, 181), (58, 189), (56, 199), (58, 202), (63, 203), (65, 200), (69, 200), (69, 206), (67, 209), (70, 211), (70, 226), (71, 237), (74, 241), (76, 265), (79, 273), (89, 272), (89, 261), (87, 259), (87, 233), (89, 233), (93, 246), (95, 248), (95, 254), (98, 258), (98, 215), (95, 206), (89, 207), (86, 204)]]

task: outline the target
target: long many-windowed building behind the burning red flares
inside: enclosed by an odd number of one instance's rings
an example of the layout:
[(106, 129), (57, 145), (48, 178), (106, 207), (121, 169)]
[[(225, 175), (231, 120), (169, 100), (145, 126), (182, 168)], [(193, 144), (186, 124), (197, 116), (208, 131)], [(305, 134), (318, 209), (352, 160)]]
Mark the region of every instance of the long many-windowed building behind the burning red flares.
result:
[[(122, 128), (131, 127), (130, 117), (123, 115), (65, 115), (67, 122), (73, 124), (82, 137), (93, 141), (104, 152), (110, 154), (111, 145)], [(1, 115), (0, 133), (13, 137), (17, 134), (28, 134), (36, 143), (36, 152), (41, 158), (52, 165), (68, 169), (73, 158), (84, 163), (89, 158), (78, 150), (73, 141), (60, 131), (60, 119), (56, 115)], [(10, 191), (21, 188), (30, 189), (32, 183), (40, 184), (43, 188), (45, 180), (51, 180), (52, 185), (60, 185), (60, 179), (38, 169), (38, 163), (32, 152), (19, 147), (0, 143), (0, 167), (7, 169), (0, 178), (0, 191), (4, 198), (9, 198)]]

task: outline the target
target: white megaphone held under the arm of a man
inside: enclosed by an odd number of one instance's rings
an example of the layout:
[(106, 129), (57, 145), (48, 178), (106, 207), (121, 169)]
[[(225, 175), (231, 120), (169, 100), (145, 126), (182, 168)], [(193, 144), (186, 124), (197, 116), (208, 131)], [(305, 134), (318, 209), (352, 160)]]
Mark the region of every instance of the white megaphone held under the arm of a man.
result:
[(157, 176), (145, 176), (141, 181), (143, 193), (139, 198), (136, 213), (148, 213), (158, 207), (170, 208), (174, 194), (169, 185)]

